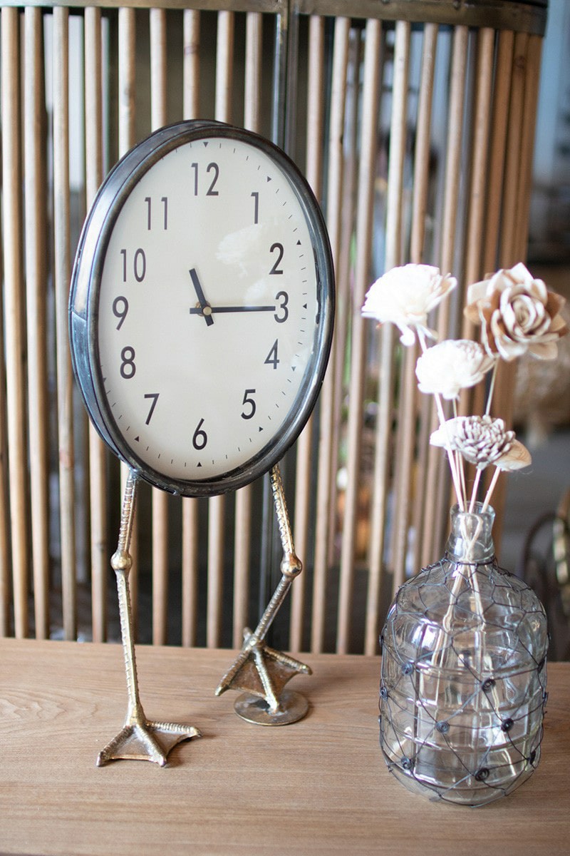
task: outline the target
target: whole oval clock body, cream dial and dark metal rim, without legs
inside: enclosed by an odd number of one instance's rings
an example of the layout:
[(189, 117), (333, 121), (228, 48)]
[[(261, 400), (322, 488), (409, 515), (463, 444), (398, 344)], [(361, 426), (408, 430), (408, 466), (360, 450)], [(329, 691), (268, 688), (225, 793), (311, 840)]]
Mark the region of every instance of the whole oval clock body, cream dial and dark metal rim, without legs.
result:
[(318, 205), (255, 134), (183, 122), (115, 167), (85, 224), (73, 365), (97, 429), (152, 484), (246, 484), (309, 413), (332, 336)]

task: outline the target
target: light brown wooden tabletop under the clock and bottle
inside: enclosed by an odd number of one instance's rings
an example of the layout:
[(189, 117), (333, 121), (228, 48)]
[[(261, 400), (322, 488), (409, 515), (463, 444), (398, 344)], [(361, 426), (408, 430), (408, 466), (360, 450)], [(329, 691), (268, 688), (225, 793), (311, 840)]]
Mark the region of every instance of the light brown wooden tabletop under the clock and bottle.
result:
[(95, 764), (122, 725), (117, 645), (0, 640), (0, 853), (475, 856), (570, 852), (570, 664), (549, 666), (537, 772), (479, 809), (432, 804), (388, 773), (379, 751), (376, 657), (303, 657), (292, 685), (309, 715), (243, 722), (214, 698), (230, 651), (140, 647), (152, 719), (188, 722), (166, 767)]

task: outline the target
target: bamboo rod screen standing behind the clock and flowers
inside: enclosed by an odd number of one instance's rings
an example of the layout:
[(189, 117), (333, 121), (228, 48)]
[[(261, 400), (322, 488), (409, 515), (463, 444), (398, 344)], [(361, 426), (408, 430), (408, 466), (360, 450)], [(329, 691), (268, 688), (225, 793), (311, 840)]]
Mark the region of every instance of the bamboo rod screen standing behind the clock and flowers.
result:
[[(305, 569), (272, 642), (373, 652), (394, 587), (441, 551), (450, 494), (415, 354), (363, 321), (361, 304), (392, 265), (438, 265), (464, 289), (525, 258), (544, 9), (367, 0), (348, 18), (338, 0), (187, 5), (201, 8), (1, 11), (0, 633), (118, 638), (109, 557), (125, 473), (73, 388), (70, 270), (115, 160), (166, 122), (203, 117), (288, 149), (326, 213), (337, 270), (320, 403), (282, 464)], [(459, 294), (438, 330), (461, 333), (461, 305)], [(141, 494), (138, 640), (240, 645), (279, 579), (267, 480), (210, 500)]]

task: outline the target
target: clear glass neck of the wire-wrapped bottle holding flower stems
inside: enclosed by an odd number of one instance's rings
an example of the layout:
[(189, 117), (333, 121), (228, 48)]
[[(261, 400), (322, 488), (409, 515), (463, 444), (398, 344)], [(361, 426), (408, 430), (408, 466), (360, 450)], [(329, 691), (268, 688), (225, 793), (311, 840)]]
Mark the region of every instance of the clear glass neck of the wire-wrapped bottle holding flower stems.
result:
[(451, 532), (446, 553), (451, 562), (484, 564), (495, 556), (493, 522), (495, 511), (491, 506), (482, 510), (475, 502), (473, 512), (461, 511), (458, 505), (451, 508)]

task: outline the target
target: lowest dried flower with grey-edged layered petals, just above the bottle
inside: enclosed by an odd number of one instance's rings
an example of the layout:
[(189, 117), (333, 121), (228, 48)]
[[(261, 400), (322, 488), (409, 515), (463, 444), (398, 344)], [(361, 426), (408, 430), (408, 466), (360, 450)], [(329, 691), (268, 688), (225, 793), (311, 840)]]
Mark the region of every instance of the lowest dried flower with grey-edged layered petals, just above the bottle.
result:
[(502, 419), (486, 415), (448, 419), (433, 431), (430, 443), (459, 452), (479, 469), (494, 464), (501, 470), (517, 470), (532, 461), (528, 449), (515, 439), (514, 431), (507, 431)]

